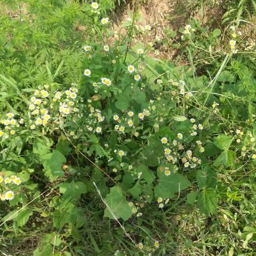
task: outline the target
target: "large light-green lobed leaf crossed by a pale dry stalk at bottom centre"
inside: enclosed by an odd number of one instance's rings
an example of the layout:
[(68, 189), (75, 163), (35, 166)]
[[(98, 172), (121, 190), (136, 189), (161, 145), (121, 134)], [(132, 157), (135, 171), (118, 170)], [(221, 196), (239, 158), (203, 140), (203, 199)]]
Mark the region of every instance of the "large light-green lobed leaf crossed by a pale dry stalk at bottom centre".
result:
[[(105, 201), (117, 219), (122, 218), (123, 220), (127, 220), (132, 216), (132, 208), (126, 201), (123, 191), (119, 186), (110, 189), (110, 193), (106, 196)], [(114, 219), (113, 214), (107, 208), (105, 209), (104, 217)]]

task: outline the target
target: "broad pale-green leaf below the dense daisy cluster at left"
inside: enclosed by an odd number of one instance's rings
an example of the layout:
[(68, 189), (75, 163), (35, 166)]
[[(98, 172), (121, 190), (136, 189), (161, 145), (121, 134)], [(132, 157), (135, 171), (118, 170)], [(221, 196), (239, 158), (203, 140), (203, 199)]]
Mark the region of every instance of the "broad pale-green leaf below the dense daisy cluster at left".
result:
[(43, 155), (41, 161), (45, 169), (45, 175), (51, 181), (56, 180), (58, 177), (63, 177), (64, 172), (61, 167), (66, 162), (66, 158), (60, 151), (53, 150), (52, 153)]

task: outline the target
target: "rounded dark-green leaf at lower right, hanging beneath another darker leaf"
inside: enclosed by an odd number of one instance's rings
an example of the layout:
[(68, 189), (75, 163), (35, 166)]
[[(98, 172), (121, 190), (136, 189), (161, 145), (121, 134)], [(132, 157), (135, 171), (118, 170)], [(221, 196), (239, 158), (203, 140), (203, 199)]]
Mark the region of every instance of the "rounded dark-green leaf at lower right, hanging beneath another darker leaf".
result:
[(205, 214), (210, 214), (217, 209), (218, 198), (213, 189), (202, 190), (197, 197), (197, 207)]

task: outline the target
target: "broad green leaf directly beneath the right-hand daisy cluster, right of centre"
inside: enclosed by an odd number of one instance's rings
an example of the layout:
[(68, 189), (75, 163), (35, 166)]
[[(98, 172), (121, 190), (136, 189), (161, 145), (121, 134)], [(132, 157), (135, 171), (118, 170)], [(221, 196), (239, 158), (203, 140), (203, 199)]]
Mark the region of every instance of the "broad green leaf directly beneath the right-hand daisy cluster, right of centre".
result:
[(155, 197), (173, 198), (177, 196), (175, 193), (189, 187), (189, 185), (188, 179), (179, 173), (161, 177), (155, 187)]

